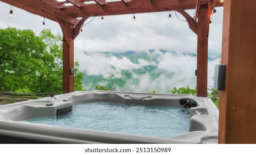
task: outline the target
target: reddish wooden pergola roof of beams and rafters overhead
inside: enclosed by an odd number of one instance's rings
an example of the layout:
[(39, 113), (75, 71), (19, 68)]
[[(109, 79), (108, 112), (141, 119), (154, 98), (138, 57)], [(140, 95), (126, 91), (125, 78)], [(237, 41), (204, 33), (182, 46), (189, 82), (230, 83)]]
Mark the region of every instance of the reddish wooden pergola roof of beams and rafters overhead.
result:
[[(73, 25), (79, 23), (79, 19), (77, 18), (82, 18), (84, 16), (111, 16), (117, 14), (163, 12), (176, 10), (177, 8), (186, 10), (197, 8), (198, 2), (206, 3), (209, 1), (212, 1), (212, 7), (209, 7), (209, 12), (211, 13), (211, 9), (223, 5), (223, 3), (220, 3), (217, 0), (120, 0), (116, 2), (107, 2), (107, 0), (65, 0), (63, 2), (56, 0), (0, 1), (54, 21), (57, 21), (56, 19), (63, 20)], [(95, 3), (86, 4), (86, 2)]]

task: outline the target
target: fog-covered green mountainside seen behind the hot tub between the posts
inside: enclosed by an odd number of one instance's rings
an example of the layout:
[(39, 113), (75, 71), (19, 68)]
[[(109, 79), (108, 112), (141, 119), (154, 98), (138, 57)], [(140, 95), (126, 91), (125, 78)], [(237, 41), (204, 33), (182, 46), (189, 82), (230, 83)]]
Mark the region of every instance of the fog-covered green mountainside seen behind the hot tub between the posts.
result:
[[(167, 50), (83, 52), (77, 60), (84, 73), (83, 86), (97, 84), (118, 91), (170, 93), (173, 87), (196, 86), (196, 54)], [(214, 65), (219, 55), (208, 56), (208, 86), (213, 85)]]

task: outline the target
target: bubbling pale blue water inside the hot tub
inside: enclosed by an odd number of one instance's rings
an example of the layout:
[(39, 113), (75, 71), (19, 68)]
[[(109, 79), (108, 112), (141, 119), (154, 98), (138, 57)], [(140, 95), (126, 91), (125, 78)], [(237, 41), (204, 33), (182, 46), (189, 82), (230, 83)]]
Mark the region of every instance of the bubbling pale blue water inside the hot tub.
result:
[(190, 117), (187, 110), (176, 107), (96, 102), (74, 105), (73, 111), (64, 116), (40, 117), (27, 121), (134, 135), (172, 137), (188, 132)]

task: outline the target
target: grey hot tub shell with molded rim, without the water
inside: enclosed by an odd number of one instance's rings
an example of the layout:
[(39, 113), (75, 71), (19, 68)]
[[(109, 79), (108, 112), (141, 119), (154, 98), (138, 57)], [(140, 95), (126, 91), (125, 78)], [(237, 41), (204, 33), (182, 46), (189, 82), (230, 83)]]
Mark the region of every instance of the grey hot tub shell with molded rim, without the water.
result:
[[(156, 137), (90, 128), (45, 125), (29, 121), (34, 118), (69, 115), (74, 111), (75, 106), (95, 102), (177, 108), (183, 110), (185, 115), (188, 113), (188, 130), (186, 133), (170, 137)], [(0, 143), (217, 143), (217, 141), (218, 108), (207, 97), (76, 91), (0, 106)]]

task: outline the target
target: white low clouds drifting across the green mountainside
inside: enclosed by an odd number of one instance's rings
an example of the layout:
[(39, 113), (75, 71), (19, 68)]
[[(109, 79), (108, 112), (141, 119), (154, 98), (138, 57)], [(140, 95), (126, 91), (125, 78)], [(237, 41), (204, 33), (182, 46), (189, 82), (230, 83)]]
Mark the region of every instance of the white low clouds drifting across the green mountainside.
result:
[[(151, 53), (148, 51), (147, 54)], [(159, 50), (151, 54), (151, 56), (154, 55), (157, 55), (158, 63), (145, 59), (139, 59), (138, 63), (132, 63), (126, 57), (117, 59), (114, 55), (106, 56), (100, 52), (87, 53), (77, 59), (80, 63), (79, 70), (84, 71), (87, 75), (103, 75), (106, 79), (110, 77), (115, 79), (122, 78), (121, 72), (123, 70), (129, 70), (133, 78), (127, 79), (123, 87), (116, 86), (115, 89), (119, 91), (147, 92), (157, 90), (168, 93), (173, 87), (190, 86), (194, 88), (196, 86), (196, 76), (194, 75), (196, 57), (178, 52), (162, 53)], [(216, 64), (219, 64), (219, 59), (208, 61), (208, 86), (213, 85), (212, 77)], [(156, 69), (153, 70), (155, 73), (162, 71), (156, 79), (152, 79), (152, 73), (137, 74), (133, 71), (149, 65), (156, 66)], [(99, 84), (107, 85), (107, 82), (99, 81)]]

